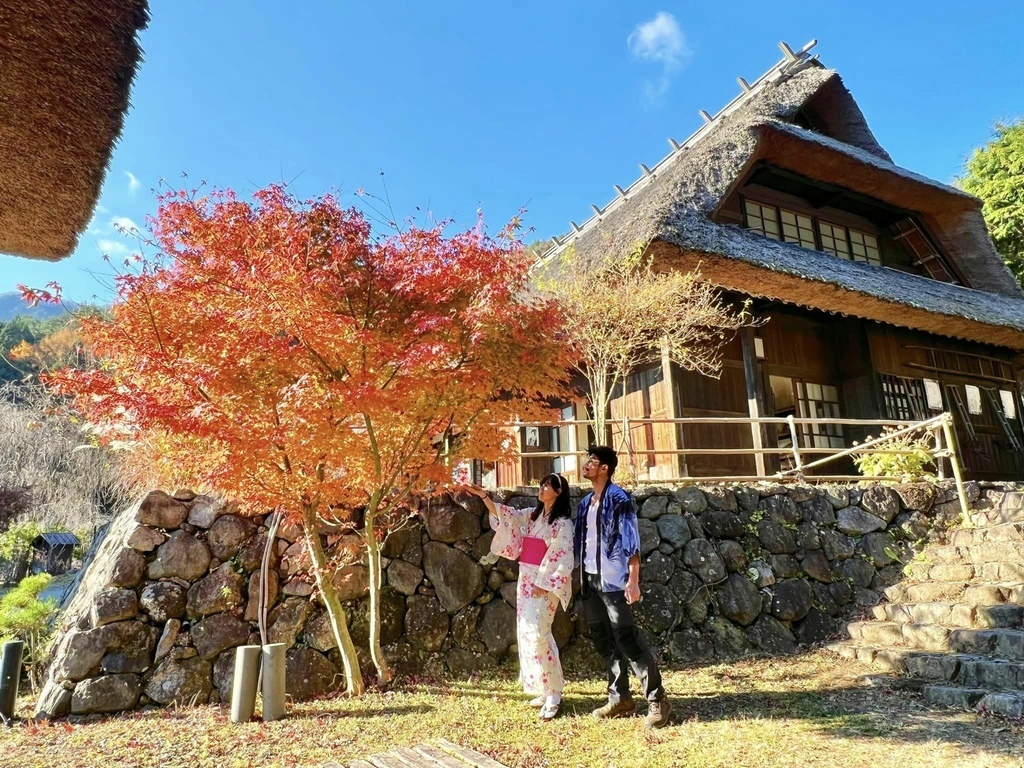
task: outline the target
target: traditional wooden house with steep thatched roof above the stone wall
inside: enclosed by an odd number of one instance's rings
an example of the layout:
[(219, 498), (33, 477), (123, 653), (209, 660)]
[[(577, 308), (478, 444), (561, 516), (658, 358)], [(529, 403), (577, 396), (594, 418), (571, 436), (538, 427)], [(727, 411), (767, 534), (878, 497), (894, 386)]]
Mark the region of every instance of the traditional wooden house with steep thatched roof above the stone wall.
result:
[[(558, 239), (595, 262), (647, 245), (657, 268), (699, 267), (764, 323), (733, 340), (718, 379), (674, 365), (636, 371), (613, 415), (924, 420), (952, 412), (965, 473), (1024, 477), (1024, 296), (995, 253), (981, 202), (895, 165), (840, 76), (793, 51), (582, 226)], [(921, 129), (927, 134), (927, 126)], [(927, 135), (924, 137), (927, 138)], [(567, 416), (586, 418), (577, 407)], [(771, 473), (750, 456), (646, 454), (750, 447), (744, 424), (645, 425), (631, 434), (641, 479)], [(774, 430), (762, 427), (765, 432)], [(804, 446), (865, 429), (802, 428)], [(761, 433), (777, 445), (787, 433)], [(574, 460), (580, 428), (541, 428), (515, 484)], [(571, 447), (570, 447), (571, 443)], [(759, 471), (761, 470), (761, 471)]]

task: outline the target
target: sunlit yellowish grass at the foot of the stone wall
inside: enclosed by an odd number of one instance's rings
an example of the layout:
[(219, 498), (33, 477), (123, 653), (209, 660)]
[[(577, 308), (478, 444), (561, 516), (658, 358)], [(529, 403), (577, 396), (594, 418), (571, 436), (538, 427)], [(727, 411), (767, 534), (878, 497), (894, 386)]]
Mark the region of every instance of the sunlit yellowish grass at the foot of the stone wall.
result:
[[(151, 710), (86, 722), (0, 729), (0, 766), (319, 766), (446, 738), (509, 766), (1024, 768), (1024, 726), (925, 709), (870, 687), (864, 668), (826, 653), (667, 671), (672, 724), (598, 722), (593, 675), (569, 675), (563, 716), (537, 720), (511, 677), (406, 682), (387, 693), (290, 709), (232, 725), (227, 710)], [(19, 714), (32, 701), (19, 702)]]

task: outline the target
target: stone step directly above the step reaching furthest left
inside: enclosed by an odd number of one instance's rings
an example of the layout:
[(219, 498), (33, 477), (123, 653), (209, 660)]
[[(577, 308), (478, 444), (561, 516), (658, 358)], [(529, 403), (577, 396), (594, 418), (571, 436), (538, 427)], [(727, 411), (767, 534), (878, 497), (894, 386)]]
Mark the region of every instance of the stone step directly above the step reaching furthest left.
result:
[(1024, 631), (957, 629), (939, 624), (851, 622), (847, 631), (862, 645), (955, 651), (1024, 662)]

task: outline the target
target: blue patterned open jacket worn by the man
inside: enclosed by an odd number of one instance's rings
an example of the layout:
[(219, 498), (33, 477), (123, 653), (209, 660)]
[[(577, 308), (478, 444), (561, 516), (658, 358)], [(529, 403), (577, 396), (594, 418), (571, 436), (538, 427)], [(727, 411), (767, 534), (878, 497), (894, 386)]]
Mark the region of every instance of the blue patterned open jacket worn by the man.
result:
[[(581, 575), (587, 542), (587, 509), (593, 498), (594, 493), (591, 492), (580, 500), (572, 531), (572, 553)], [(608, 483), (597, 519), (598, 541), (601, 543), (597, 564), (602, 591), (625, 590), (630, 574), (630, 558), (640, 554), (640, 528), (637, 526), (633, 497), (614, 483)]]

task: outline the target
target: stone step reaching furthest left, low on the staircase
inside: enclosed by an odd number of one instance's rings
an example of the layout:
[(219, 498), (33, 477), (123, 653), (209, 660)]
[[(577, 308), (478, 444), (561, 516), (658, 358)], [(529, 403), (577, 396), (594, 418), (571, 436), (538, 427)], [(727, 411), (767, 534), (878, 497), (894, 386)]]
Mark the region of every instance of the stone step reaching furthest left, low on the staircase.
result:
[(885, 648), (855, 642), (825, 646), (846, 658), (855, 658), (888, 672), (931, 683), (953, 683), (988, 691), (1024, 691), (1024, 660), (986, 658), (971, 653), (935, 653), (910, 648)]

